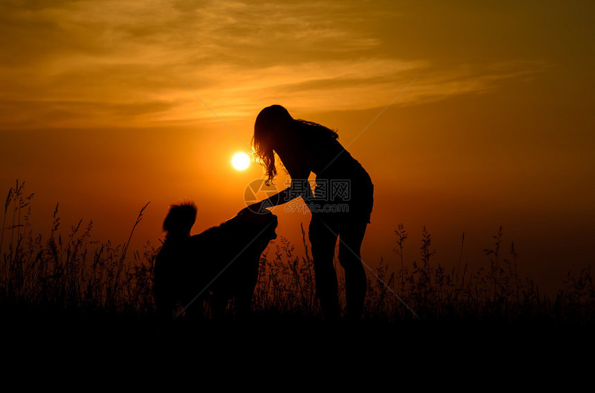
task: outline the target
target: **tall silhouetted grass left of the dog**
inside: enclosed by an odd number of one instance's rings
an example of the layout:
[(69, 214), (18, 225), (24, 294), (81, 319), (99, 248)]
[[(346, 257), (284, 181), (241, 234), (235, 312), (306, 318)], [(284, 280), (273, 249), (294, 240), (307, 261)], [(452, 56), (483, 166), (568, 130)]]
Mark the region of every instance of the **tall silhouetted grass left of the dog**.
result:
[[(82, 220), (62, 234), (58, 205), (48, 238), (30, 229), (30, 200), (24, 183), (11, 188), (5, 202), (0, 241), (0, 305), (33, 305), (84, 312), (146, 314), (154, 308), (152, 270), (155, 250), (127, 256), (134, 228), (124, 245), (91, 240), (93, 222)], [(6, 238), (6, 239), (5, 239)], [(4, 241), (6, 240), (6, 241)]]

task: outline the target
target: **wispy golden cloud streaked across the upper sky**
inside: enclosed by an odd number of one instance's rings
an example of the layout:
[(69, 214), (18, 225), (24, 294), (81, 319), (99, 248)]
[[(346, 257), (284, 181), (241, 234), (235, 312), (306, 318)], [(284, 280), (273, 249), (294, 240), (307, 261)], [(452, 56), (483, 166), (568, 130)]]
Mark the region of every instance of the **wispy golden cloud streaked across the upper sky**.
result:
[[(192, 110), (183, 79), (222, 116), (279, 102), (303, 111), (384, 106), (496, 88), (538, 64), (439, 69), (383, 52), (359, 3), (61, 1), (3, 3), (4, 128), (140, 125)], [(385, 10), (386, 13), (394, 12)]]

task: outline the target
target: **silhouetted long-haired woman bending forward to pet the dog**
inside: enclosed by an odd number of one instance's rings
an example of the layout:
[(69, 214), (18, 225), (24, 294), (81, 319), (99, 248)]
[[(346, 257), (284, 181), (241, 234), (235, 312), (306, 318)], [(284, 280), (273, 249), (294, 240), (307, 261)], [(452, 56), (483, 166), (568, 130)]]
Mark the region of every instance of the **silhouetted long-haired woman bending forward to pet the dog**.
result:
[[(293, 119), (282, 106), (264, 108), (256, 118), (253, 147), (266, 169), (267, 182), (277, 175), (275, 153), (291, 186), (247, 209), (262, 210), (302, 196), (312, 212), (309, 238), (314, 259), (316, 293), (325, 318), (339, 315), (337, 275), (333, 256), (337, 238), (339, 262), (345, 269), (347, 316), (360, 318), (366, 276), (360, 257), (374, 186), (369, 175), (337, 140), (329, 128)], [(312, 194), (308, 177), (316, 175)]]

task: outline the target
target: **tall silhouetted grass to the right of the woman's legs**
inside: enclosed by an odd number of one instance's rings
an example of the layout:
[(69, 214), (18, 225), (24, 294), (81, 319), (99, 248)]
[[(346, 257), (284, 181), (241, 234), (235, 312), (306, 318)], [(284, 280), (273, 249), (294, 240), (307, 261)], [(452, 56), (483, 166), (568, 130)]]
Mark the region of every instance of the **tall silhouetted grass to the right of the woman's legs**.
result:
[[(408, 237), (402, 224), (396, 231), (403, 255)], [(528, 321), (548, 319), (560, 323), (592, 323), (595, 317), (595, 288), (590, 267), (578, 277), (568, 273), (563, 289), (556, 296), (540, 294), (538, 285), (518, 273), (518, 251), (511, 242), (502, 249), (502, 227), (493, 236), (493, 247), (484, 249), (487, 260), (475, 271), (469, 264), (446, 267), (435, 262), (430, 233), (423, 227), (420, 259), (396, 271), (381, 261), (368, 281), (369, 318), (399, 321), (422, 320), (498, 320)], [(481, 265), (481, 264), (480, 264)], [(386, 289), (393, 289), (391, 294)], [(401, 294), (400, 296), (397, 294)]]

